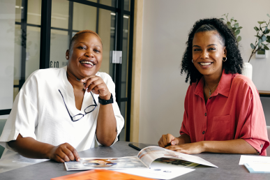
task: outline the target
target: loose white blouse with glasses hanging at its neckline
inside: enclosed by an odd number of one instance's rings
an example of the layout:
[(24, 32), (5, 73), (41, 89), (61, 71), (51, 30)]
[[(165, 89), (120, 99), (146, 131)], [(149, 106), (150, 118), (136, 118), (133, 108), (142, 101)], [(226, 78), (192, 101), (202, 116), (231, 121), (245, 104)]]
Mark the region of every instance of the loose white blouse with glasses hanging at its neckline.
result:
[[(112, 107), (117, 120), (118, 136), (123, 128), (124, 119), (116, 103), (114, 82), (107, 73), (98, 72), (96, 75), (103, 79), (114, 98)], [(84, 114), (86, 107), (94, 105), (91, 93), (86, 91), (82, 110), (77, 110), (73, 87), (66, 76), (66, 67), (36, 70), (17, 94), (6, 126), (3, 128), (0, 145), (6, 149), (0, 159), (0, 172), (44, 161), (44, 159), (24, 158), (8, 146), (7, 142), (16, 140), (19, 133), (22, 137), (33, 137), (39, 142), (54, 146), (68, 142), (77, 151), (84, 151), (95, 146), (96, 124), (100, 107), (98, 95), (93, 93), (98, 104), (96, 110), (79, 121), (71, 121), (59, 90), (72, 117), (76, 114)], [(116, 137), (114, 142), (117, 140)], [(101, 144), (98, 142), (98, 145)]]

